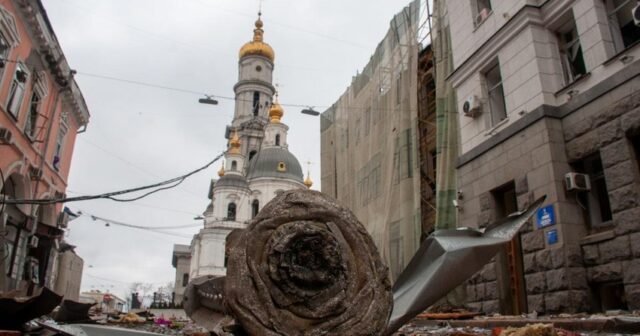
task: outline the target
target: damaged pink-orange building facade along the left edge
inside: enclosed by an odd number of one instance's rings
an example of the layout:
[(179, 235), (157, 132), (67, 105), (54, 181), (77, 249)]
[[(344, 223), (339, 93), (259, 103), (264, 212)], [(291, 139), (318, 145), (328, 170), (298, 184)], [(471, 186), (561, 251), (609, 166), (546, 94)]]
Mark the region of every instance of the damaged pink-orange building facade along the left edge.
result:
[[(39, 0), (0, 1), (3, 199), (65, 196), (76, 134), (89, 120), (73, 73)], [(67, 221), (60, 204), (0, 207), (0, 291), (56, 287)]]

